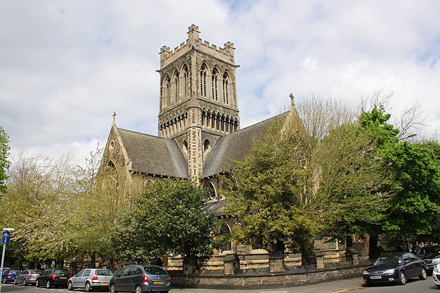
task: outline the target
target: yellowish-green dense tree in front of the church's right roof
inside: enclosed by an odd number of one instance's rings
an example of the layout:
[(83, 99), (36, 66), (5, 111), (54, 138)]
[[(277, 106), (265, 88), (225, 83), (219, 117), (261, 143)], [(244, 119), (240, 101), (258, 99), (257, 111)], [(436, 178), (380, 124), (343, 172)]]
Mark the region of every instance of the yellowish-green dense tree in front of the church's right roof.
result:
[(307, 139), (278, 120), (254, 139), (252, 151), (224, 178), (232, 239), (269, 251), (309, 251), (320, 215), (307, 196)]

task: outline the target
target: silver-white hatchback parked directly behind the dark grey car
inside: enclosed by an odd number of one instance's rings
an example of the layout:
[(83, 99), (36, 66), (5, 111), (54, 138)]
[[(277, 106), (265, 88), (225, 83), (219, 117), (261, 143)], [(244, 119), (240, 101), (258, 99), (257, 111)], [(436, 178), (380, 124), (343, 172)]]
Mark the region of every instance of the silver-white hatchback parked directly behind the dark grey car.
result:
[(67, 282), (67, 289), (84, 288), (87, 292), (93, 289), (109, 289), (113, 273), (102, 268), (85, 268), (74, 274)]

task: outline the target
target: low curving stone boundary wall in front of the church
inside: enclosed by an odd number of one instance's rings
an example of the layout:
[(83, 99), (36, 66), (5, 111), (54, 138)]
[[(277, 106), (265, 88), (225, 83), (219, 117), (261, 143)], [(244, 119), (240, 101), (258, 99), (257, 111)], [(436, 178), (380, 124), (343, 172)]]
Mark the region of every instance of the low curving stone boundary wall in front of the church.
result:
[(370, 261), (325, 263), (324, 268), (311, 266), (285, 267), (284, 272), (270, 272), (269, 269), (235, 270), (233, 275), (225, 275), (224, 270), (201, 270), (185, 276), (181, 270), (170, 271), (171, 283), (177, 288), (264, 288), (274, 285), (292, 286), (305, 283), (346, 279), (362, 276), (362, 271), (371, 266)]

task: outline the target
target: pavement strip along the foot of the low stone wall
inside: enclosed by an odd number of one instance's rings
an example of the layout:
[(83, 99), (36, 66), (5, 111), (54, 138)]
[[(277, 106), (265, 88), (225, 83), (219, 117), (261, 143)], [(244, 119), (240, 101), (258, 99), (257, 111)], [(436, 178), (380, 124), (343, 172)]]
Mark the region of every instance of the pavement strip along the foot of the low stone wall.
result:
[(316, 283), (311, 285), (295, 286), (295, 287), (282, 287), (282, 288), (262, 288), (262, 289), (236, 289), (236, 290), (222, 290), (222, 289), (180, 289), (173, 288), (170, 293), (179, 292), (193, 292), (193, 293), (336, 293), (336, 292), (348, 292), (355, 288), (360, 289), (364, 284), (362, 277), (353, 279), (342, 279), (337, 281), (329, 281), (323, 283)]

